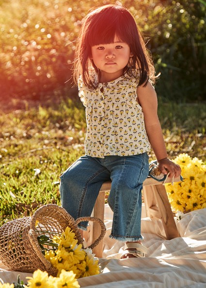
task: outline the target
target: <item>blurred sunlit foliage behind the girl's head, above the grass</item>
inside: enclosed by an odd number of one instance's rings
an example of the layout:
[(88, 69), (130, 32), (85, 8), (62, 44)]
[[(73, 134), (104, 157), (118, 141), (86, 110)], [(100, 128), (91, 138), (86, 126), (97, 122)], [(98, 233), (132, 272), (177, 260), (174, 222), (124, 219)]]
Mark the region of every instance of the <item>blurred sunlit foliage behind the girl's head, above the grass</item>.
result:
[[(71, 68), (82, 18), (107, 0), (0, 0), (0, 100), (72, 97)], [(120, 0), (150, 49), (162, 101), (206, 95), (206, 0)], [(53, 91), (55, 93), (53, 94)]]

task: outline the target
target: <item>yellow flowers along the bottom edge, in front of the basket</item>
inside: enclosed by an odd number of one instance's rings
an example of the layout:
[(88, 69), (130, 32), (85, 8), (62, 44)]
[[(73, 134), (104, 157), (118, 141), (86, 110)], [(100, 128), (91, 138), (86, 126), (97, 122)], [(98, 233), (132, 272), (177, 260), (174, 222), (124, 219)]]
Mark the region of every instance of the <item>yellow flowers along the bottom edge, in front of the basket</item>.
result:
[(18, 281), (13, 284), (2, 283), (0, 282), (0, 288), (79, 288), (79, 283), (75, 278), (75, 274), (70, 271), (66, 272), (62, 270), (59, 277), (48, 276), (47, 272), (43, 272), (41, 270), (34, 271), (32, 277), (26, 277), (28, 279), (28, 284), (24, 285), (23, 281), (20, 281), (18, 275)]

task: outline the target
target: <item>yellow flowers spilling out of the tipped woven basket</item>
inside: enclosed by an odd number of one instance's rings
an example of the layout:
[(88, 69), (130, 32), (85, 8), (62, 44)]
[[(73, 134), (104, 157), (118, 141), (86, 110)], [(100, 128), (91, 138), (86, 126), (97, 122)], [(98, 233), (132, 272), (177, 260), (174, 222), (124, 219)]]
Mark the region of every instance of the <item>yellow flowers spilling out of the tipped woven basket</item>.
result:
[(38, 236), (38, 242), (45, 258), (58, 270), (57, 276), (62, 270), (72, 271), (76, 279), (99, 273), (98, 259), (94, 258), (92, 249), (83, 249), (70, 227), (51, 240), (46, 235)]

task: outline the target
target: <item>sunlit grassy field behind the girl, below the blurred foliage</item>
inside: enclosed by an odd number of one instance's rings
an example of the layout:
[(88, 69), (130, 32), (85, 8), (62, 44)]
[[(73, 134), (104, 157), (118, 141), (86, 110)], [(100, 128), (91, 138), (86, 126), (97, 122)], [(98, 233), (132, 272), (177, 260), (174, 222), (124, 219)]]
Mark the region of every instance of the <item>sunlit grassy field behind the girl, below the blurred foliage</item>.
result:
[[(160, 102), (159, 118), (171, 158), (185, 152), (206, 161), (205, 104)], [(13, 103), (0, 111), (0, 127), (0, 225), (43, 204), (60, 205), (59, 176), (84, 153), (80, 101)]]

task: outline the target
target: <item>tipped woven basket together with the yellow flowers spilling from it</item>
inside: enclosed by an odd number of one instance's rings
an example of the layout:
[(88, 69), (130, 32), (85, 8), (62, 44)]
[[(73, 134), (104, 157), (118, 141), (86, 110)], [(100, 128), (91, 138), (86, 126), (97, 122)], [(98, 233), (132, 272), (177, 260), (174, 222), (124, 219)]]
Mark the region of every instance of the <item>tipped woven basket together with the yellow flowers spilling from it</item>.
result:
[[(100, 236), (87, 248), (78, 228), (82, 221), (95, 221), (101, 226)], [(0, 260), (20, 272), (34, 273), (40, 269), (59, 277), (65, 271), (73, 272), (76, 279), (95, 275), (99, 266), (92, 249), (105, 232), (105, 225), (98, 218), (81, 217), (75, 221), (62, 207), (44, 205), (31, 217), (15, 219), (0, 227)]]

